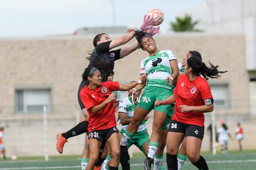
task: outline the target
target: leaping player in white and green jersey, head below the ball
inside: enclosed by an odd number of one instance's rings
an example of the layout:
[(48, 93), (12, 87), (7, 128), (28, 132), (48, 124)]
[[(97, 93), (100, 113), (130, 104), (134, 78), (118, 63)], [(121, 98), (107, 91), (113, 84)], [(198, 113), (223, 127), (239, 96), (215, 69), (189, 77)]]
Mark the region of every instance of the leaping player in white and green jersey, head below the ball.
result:
[[(137, 132), (140, 123), (144, 117), (152, 109), (154, 109), (154, 120), (152, 134), (148, 146), (148, 155), (145, 159), (145, 169), (151, 169), (151, 163), (155, 156), (156, 150), (161, 140), (161, 131), (166, 121), (166, 117), (171, 111), (171, 105), (166, 105), (161, 108), (155, 108), (155, 101), (166, 99), (173, 94), (172, 83), (179, 75), (177, 67), (177, 59), (170, 50), (158, 50), (156, 42), (152, 36), (142, 32), (135, 32), (135, 37), (139, 41), (140, 47), (147, 51), (149, 56), (140, 64), (140, 74), (147, 74), (147, 85), (145, 83), (136, 86), (134, 91), (145, 90), (142, 93), (140, 102), (134, 110), (134, 117), (124, 132), (121, 140), (121, 149), (126, 148), (127, 143)], [(169, 82), (166, 81), (169, 78)], [(162, 159), (162, 158), (159, 158)]]

